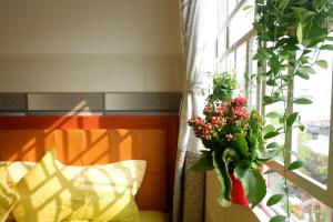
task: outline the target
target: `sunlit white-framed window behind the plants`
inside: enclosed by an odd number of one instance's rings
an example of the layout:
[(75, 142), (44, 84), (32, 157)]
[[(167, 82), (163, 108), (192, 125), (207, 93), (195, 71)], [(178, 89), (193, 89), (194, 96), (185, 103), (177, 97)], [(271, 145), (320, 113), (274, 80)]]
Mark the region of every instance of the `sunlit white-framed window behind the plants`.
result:
[[(258, 72), (256, 61), (252, 60), (258, 43), (252, 29), (255, 10), (253, 8), (243, 10), (248, 8), (246, 6), (254, 6), (254, 0), (219, 0), (215, 65), (218, 72), (231, 71), (236, 74), (242, 88), (240, 93), (248, 98), (250, 109), (258, 109), (268, 114), (273, 110), (283, 110), (283, 104), (262, 107), (261, 98), (269, 94), (271, 89), (256, 80), (251, 81), (252, 74)], [(285, 137), (275, 139), (279, 142), (286, 142), (287, 164), (296, 158), (305, 162), (305, 168), (287, 175), (292, 193), (290, 201), (293, 221), (332, 221), (333, 133), (330, 127), (333, 107), (333, 53), (324, 52), (321, 57), (330, 61), (329, 69), (316, 68), (316, 74), (312, 74), (310, 80), (296, 78), (294, 81), (292, 97), (305, 97), (313, 101), (312, 104), (293, 107), (294, 112), (300, 112), (299, 121), (304, 124), (305, 130), (294, 129)], [(273, 127), (276, 121), (268, 119), (268, 124)], [(282, 167), (281, 160), (280, 155), (268, 167)], [(268, 181), (270, 192), (283, 190), (279, 183), (282, 181), (281, 175), (270, 174)], [(278, 209), (263, 208), (272, 216), (279, 211), (283, 212), (283, 203), (276, 206)]]

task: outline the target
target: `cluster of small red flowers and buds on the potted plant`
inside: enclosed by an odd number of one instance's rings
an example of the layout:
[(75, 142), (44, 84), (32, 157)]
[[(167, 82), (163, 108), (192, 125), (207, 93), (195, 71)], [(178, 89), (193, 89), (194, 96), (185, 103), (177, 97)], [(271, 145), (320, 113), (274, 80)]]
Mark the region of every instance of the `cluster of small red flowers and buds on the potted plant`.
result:
[(233, 139), (249, 128), (249, 112), (245, 98), (234, 98), (230, 102), (208, 104), (203, 110), (204, 119), (192, 118), (188, 124), (193, 128), (196, 138), (203, 140)]

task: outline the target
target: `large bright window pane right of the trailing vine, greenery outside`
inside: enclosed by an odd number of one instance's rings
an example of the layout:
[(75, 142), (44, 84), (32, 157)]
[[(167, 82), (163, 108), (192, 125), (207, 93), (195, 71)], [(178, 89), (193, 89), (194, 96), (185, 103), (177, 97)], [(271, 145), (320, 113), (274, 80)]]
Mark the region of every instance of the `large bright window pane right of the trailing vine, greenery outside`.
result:
[(292, 149), (305, 163), (301, 172), (324, 185), (327, 184), (330, 149), (332, 56), (332, 52), (322, 51), (320, 59), (329, 61), (329, 69), (316, 67), (316, 74), (312, 74), (310, 80), (295, 79), (294, 87), (295, 98), (307, 98), (313, 103), (294, 105), (305, 130), (293, 131)]

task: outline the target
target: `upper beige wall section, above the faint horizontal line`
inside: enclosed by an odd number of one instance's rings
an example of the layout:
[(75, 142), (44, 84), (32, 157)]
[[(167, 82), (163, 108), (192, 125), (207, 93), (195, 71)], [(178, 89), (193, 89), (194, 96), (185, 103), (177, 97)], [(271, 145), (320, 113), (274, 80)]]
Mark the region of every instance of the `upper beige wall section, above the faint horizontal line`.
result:
[(180, 52), (178, 0), (3, 0), (0, 53)]

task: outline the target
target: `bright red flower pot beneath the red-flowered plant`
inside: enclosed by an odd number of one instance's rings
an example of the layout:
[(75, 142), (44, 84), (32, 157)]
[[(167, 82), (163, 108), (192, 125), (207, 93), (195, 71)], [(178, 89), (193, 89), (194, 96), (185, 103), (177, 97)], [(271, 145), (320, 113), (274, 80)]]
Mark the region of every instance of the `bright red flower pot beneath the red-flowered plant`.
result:
[(249, 201), (245, 198), (242, 182), (238, 180), (233, 173), (230, 173), (232, 189), (231, 189), (231, 202), (238, 205), (249, 206)]

